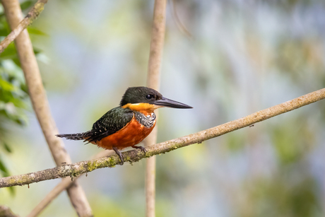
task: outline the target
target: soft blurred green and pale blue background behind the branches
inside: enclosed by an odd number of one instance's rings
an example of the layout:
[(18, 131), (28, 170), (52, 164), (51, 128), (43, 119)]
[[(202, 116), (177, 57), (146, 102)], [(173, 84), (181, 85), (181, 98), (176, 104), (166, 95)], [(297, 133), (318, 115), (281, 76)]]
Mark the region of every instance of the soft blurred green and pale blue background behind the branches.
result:
[[(48, 2), (29, 31), (60, 133), (87, 131), (146, 85), (152, 18), (153, 1)], [(1, 176), (52, 168), (13, 45), (0, 58)], [(324, 0), (168, 2), (160, 93), (194, 109), (160, 109), (158, 142), (324, 86)], [(316, 102), (158, 156), (157, 216), (325, 216), (324, 114)], [(73, 162), (101, 151), (64, 143)], [(141, 160), (82, 177), (95, 216), (144, 216), (144, 170)], [(59, 182), (0, 189), (0, 204), (25, 216)], [(40, 216), (76, 213), (64, 192)]]

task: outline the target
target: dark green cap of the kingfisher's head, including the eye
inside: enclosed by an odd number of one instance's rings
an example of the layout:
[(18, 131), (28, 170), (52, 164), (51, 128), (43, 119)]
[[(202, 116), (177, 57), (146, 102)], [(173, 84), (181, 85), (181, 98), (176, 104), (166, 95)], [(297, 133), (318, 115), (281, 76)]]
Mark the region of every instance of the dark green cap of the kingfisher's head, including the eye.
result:
[(157, 90), (146, 87), (132, 87), (125, 91), (119, 105), (123, 106), (128, 103), (135, 104), (141, 102), (153, 104), (156, 100), (161, 99), (162, 95)]

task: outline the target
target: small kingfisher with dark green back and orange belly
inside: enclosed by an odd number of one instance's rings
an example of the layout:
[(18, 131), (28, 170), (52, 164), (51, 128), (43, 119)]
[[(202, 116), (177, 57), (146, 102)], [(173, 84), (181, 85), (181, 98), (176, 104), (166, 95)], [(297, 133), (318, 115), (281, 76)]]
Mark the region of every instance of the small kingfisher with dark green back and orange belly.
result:
[(160, 107), (178, 109), (193, 108), (182, 102), (163, 97), (157, 90), (143, 86), (127, 88), (118, 107), (114, 107), (102, 115), (93, 124), (90, 131), (78, 134), (57, 134), (56, 136), (71, 140), (83, 140), (98, 147), (114, 150), (124, 163), (122, 149), (127, 147), (140, 148), (146, 153), (146, 148), (136, 146), (145, 139), (156, 123), (154, 110)]

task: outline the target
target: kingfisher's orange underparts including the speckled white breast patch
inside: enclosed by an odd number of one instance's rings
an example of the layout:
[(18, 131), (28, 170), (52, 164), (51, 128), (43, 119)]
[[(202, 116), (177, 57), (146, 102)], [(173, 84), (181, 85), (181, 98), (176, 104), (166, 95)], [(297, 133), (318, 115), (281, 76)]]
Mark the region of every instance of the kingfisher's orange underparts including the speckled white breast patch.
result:
[(129, 124), (116, 133), (97, 141), (96, 144), (105, 149), (117, 147), (119, 150), (134, 146), (145, 139), (155, 127), (155, 113), (144, 115), (134, 112), (134, 117)]

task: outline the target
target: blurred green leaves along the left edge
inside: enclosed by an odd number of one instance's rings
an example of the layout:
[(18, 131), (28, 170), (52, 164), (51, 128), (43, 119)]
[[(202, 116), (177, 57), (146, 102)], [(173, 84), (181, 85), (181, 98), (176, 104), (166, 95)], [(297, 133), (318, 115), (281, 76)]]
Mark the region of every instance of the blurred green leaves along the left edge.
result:
[[(22, 10), (30, 8), (33, 1), (24, 1), (20, 4)], [(40, 30), (31, 28), (29, 33), (45, 35)], [(4, 12), (0, 13), (0, 38), (1, 40), (11, 32), (6, 22)], [(40, 51), (34, 48), (35, 54)], [(6, 143), (5, 124), (15, 123), (24, 126), (27, 123), (25, 111), (28, 110), (28, 88), (25, 84), (23, 71), (13, 43), (0, 54), (0, 148), (4, 153), (11, 153), (10, 144)], [(0, 155), (0, 174), (8, 176), (10, 172)]]

